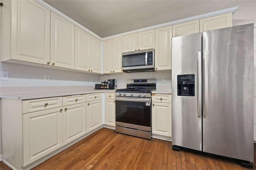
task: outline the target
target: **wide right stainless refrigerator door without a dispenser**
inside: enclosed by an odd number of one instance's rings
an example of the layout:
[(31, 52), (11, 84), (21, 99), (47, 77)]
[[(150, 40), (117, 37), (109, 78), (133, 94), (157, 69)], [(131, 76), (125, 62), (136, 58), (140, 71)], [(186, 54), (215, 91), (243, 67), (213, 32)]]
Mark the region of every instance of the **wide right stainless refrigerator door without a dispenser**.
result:
[(253, 24), (203, 32), (203, 151), (253, 161)]

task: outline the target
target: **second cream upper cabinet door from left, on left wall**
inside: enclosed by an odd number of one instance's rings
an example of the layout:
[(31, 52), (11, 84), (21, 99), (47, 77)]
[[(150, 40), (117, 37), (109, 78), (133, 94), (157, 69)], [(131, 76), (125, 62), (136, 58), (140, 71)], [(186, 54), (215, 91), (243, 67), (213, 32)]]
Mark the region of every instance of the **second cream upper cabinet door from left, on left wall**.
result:
[(51, 65), (75, 68), (75, 26), (51, 12)]

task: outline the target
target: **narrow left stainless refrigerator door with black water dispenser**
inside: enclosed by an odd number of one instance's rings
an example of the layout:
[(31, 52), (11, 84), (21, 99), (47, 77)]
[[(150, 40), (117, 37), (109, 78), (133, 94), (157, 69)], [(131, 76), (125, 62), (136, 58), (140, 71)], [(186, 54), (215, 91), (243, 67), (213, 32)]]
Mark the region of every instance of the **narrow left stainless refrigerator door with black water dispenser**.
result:
[(200, 33), (172, 38), (172, 145), (194, 150), (202, 150), (201, 50)]

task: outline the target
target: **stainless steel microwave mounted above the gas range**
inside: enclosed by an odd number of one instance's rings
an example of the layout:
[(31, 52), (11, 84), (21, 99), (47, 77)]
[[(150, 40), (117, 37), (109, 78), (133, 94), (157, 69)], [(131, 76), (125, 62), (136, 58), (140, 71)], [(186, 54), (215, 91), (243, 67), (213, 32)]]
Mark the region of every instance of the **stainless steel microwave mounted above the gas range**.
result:
[(155, 71), (154, 55), (153, 48), (122, 53), (122, 70), (128, 73)]

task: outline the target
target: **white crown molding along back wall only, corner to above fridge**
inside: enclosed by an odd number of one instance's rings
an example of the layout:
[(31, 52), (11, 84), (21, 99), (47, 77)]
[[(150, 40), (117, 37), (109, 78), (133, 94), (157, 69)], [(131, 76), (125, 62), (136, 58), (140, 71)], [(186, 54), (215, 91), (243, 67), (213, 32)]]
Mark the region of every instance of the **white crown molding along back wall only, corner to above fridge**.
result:
[(120, 37), (120, 36), (125, 36), (125, 35), (128, 35), (128, 34), (134, 34), (134, 33), (137, 33), (137, 32), (162, 28), (162, 27), (166, 27), (166, 26), (172, 26), (174, 24), (181, 24), (183, 22), (189, 22), (189, 21), (199, 20), (199, 19), (202, 19), (202, 18), (208, 18), (208, 17), (212, 17), (212, 16), (216, 16), (216, 15), (227, 14), (227, 13), (230, 13), (230, 12), (235, 12), (238, 8), (239, 8), (239, 6), (235, 6), (235, 7), (232, 7), (232, 8), (226, 8), (224, 10), (218, 10), (218, 11), (210, 12), (210, 13), (207, 13), (207, 14), (192, 16), (192, 17), (189, 17), (189, 18), (181, 19), (181, 20), (166, 22), (164, 24), (158, 24), (158, 25), (155, 25), (155, 26), (150, 26), (150, 27), (141, 28), (141, 29), (138, 29), (138, 30), (124, 32), (124, 33), (121, 33), (121, 34), (116, 34), (114, 36), (109, 36), (109, 37), (102, 38), (102, 41), (109, 40), (109, 39), (112, 39), (112, 38), (117, 38), (117, 37)]

